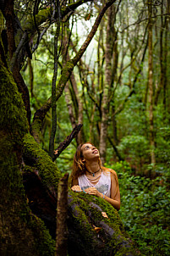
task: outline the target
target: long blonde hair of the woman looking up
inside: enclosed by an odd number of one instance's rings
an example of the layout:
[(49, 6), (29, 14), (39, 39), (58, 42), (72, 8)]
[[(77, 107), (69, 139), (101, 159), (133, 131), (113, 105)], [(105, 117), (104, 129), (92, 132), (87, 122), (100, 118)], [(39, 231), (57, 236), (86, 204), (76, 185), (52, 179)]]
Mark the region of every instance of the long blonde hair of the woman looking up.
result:
[[(82, 153), (82, 150), (81, 150), (81, 147), (86, 144), (86, 143), (90, 143), (90, 142), (85, 142), (85, 143), (81, 143), (78, 147), (77, 147), (77, 150), (74, 154), (74, 164), (73, 164), (73, 169), (72, 169), (72, 173), (71, 175), (69, 176), (69, 183), (70, 183), (70, 186), (72, 186), (72, 182), (74, 179), (77, 179), (79, 176), (81, 175), (84, 175), (85, 174), (85, 163), (82, 161), (84, 159), (84, 156), (83, 156), (83, 153)], [(92, 146), (93, 144), (90, 143)], [(118, 192), (118, 176), (115, 172), (115, 170), (111, 170), (107, 167), (104, 167), (101, 165), (101, 159), (99, 158), (98, 159), (98, 164), (101, 168), (101, 170), (105, 171), (106, 173), (109, 171), (112, 173), (112, 175), (114, 176), (115, 178), (115, 181), (117, 183), (117, 191), (115, 192), (115, 195), (117, 194)]]

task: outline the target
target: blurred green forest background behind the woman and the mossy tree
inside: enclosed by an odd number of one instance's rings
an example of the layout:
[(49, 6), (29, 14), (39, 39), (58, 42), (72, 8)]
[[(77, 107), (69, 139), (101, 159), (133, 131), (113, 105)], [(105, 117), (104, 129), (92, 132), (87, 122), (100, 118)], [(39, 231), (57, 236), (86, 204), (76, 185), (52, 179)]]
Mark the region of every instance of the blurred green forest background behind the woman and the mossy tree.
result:
[[(3, 11), (7, 2), (10, 9)], [(84, 56), (73, 64), (109, 2)], [(11, 3), (1, 6), (1, 58), (22, 94), (31, 135), (52, 157), (82, 123), (55, 164), (70, 173), (77, 145), (94, 143), (102, 162), (118, 173), (126, 231), (144, 255), (170, 255), (169, 1)], [(43, 107), (47, 113), (32, 125)]]

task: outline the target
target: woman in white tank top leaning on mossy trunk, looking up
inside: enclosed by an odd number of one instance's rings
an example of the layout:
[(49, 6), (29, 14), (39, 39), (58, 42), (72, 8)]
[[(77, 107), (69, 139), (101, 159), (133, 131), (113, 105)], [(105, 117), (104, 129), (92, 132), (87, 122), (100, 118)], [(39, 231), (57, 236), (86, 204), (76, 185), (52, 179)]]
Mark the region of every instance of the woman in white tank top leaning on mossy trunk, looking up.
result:
[(90, 142), (77, 148), (70, 178), (74, 192), (95, 195), (120, 209), (118, 176), (114, 170), (101, 166), (99, 151)]

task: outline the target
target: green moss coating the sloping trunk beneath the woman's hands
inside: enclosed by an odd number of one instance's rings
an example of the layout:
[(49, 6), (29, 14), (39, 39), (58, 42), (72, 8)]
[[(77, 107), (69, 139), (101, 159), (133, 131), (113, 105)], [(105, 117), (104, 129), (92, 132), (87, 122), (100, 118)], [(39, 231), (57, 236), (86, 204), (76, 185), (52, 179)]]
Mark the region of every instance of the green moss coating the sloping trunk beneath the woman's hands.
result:
[[(102, 198), (87, 195), (83, 192), (70, 192), (72, 198), (69, 207), (73, 210), (74, 225), (80, 232), (80, 236), (85, 237), (85, 244), (89, 244), (90, 253), (96, 253), (96, 247), (99, 241), (104, 242), (101, 248), (101, 254), (110, 255), (139, 255), (134, 248), (129, 236), (126, 234), (123, 223), (120, 220), (118, 212), (111, 204)], [(108, 218), (103, 217), (101, 212), (105, 212)], [(101, 227), (101, 231), (96, 233), (94, 226)], [(108, 235), (106, 231), (112, 235)], [(126, 246), (126, 244), (128, 246)], [(92, 245), (92, 247), (91, 247)]]

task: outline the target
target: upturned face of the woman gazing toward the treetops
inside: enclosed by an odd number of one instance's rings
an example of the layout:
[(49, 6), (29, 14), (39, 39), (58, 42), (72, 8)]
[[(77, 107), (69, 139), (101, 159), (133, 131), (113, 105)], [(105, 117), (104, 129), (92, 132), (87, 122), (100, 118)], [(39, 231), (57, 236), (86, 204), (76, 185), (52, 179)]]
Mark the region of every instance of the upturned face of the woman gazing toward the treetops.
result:
[(85, 160), (92, 160), (92, 159), (99, 159), (100, 153), (95, 146), (91, 145), (90, 143), (85, 143), (81, 147), (81, 152), (83, 153)]

